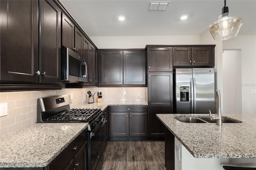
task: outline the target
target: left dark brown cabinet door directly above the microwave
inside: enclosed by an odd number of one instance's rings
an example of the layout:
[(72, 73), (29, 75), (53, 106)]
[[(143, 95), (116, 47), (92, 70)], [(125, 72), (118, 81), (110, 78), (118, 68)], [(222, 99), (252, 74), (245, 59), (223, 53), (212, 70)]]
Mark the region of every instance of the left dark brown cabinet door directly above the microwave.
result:
[(62, 41), (61, 45), (64, 47), (68, 47), (69, 49), (74, 49), (74, 33), (75, 33), (75, 25), (68, 19), (68, 17), (62, 13)]

